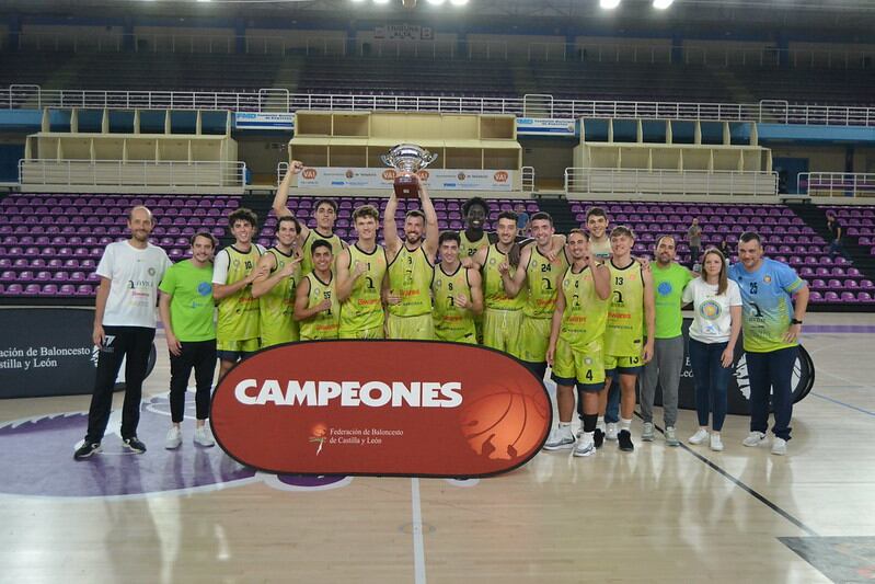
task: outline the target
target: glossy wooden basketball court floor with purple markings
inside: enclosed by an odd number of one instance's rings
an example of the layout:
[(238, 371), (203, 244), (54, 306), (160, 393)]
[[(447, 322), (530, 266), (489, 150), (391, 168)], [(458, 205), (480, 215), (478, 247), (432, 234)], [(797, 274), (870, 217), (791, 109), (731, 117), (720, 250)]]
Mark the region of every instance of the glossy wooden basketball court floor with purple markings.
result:
[(142, 456), (122, 454), (113, 417), (105, 453), (73, 461), (87, 396), (2, 402), (0, 581), (875, 581), (871, 314), (807, 317), (816, 382), (786, 457), (742, 447), (732, 415), (723, 453), (689, 446), (682, 410), (679, 448), (642, 443), (636, 420), (632, 454), (541, 453), (474, 481), (258, 473), (195, 447), (193, 421), (165, 450), (160, 334)]

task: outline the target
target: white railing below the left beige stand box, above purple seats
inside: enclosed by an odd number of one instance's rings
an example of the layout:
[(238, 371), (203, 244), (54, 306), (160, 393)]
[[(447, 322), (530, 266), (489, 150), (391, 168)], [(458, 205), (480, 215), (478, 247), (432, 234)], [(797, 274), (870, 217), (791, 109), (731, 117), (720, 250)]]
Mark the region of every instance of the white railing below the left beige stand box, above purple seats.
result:
[(154, 160), (57, 160), (19, 161), (23, 190), (43, 186), (242, 188), (244, 162)]

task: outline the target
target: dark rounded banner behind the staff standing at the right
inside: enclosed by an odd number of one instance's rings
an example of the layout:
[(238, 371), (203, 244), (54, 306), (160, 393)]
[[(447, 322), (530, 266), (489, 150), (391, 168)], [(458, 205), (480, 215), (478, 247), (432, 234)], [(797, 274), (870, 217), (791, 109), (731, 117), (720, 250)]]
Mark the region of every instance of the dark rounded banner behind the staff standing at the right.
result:
[[(695, 409), (695, 382), (689, 353), (689, 329), (691, 323), (692, 319), (683, 319), (683, 369), (681, 369), (680, 386), (678, 388), (678, 408), (684, 410)], [(735, 375), (729, 378), (729, 386), (727, 387), (726, 411), (730, 414), (749, 415), (750, 379), (748, 378), (747, 359), (745, 358), (742, 343), (744, 339), (739, 336), (735, 348)], [(798, 402), (805, 398), (814, 387), (814, 362), (808, 352), (805, 351), (805, 347), (799, 345), (799, 355), (793, 367), (793, 402)], [(658, 386), (655, 403), (657, 405), (663, 403), (663, 390)]]

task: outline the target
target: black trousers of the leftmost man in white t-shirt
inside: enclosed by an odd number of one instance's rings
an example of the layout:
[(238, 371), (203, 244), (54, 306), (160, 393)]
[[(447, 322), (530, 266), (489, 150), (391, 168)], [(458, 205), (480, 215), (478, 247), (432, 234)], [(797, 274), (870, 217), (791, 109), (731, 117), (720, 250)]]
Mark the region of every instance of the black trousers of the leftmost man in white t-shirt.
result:
[(110, 412), (113, 408), (113, 388), (125, 364), (125, 405), (122, 409), (122, 439), (137, 435), (140, 422), (140, 399), (142, 380), (149, 364), (149, 351), (154, 340), (154, 329), (146, 327), (104, 327), (106, 340), (97, 357), (97, 375), (94, 378), (94, 393), (88, 411), (88, 434), (85, 440), (99, 443), (106, 432)]

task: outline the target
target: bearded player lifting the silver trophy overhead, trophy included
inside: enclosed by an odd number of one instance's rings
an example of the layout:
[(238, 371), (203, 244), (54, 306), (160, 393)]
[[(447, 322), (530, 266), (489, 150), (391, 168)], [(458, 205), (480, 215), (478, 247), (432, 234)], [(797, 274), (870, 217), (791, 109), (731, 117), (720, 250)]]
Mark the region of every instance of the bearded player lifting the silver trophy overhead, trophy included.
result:
[[(400, 174), (383, 213), (383, 237), (389, 262), (387, 336), (428, 341), (435, 337), (431, 319), (431, 278), (438, 247), (437, 213), (428, 190), (416, 171), (437, 159), (413, 145), (399, 145), (382, 157)], [(419, 197), (423, 210), (410, 210), (404, 219), (404, 239), (398, 234), (395, 210), (399, 197)], [(425, 239), (423, 239), (425, 231)]]

